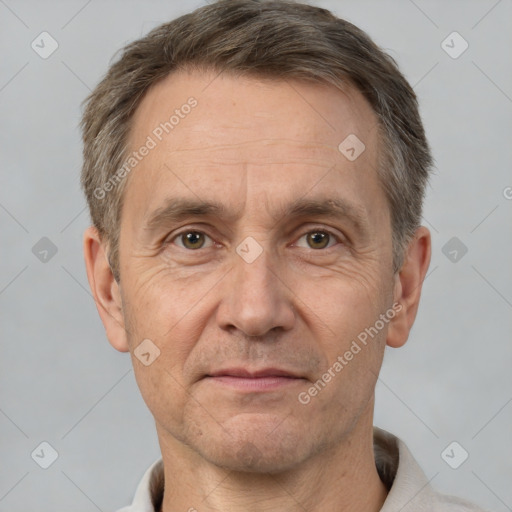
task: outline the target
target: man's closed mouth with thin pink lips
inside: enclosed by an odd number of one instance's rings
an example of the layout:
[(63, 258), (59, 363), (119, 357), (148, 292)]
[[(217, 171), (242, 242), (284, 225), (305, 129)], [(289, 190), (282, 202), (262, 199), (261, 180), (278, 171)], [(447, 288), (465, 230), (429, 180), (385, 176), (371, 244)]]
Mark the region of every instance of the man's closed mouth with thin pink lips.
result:
[(297, 385), (305, 380), (292, 372), (278, 368), (264, 368), (256, 371), (245, 368), (228, 368), (212, 372), (205, 378), (220, 386), (253, 392), (272, 391), (285, 386)]

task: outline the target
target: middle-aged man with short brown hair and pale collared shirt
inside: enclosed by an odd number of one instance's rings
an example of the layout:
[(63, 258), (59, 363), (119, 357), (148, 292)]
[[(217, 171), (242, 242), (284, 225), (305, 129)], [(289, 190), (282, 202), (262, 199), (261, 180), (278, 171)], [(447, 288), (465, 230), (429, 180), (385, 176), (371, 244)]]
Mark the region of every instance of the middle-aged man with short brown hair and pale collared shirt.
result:
[(89, 283), (162, 460), (124, 511), (475, 511), (373, 427), (430, 261), (431, 156), (390, 57), (328, 11), (221, 0), (87, 102)]

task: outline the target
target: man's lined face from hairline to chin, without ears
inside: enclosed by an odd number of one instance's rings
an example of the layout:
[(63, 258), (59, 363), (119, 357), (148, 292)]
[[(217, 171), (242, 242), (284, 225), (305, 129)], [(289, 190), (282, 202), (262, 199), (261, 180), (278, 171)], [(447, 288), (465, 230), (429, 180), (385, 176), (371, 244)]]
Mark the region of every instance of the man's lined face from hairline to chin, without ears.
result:
[[(354, 90), (214, 77), (171, 75), (137, 109), (130, 148), (156, 147), (125, 190), (123, 313), (160, 442), (279, 471), (371, 421), (387, 324), (344, 354), (393, 304), (377, 121)], [(366, 147), (353, 161), (338, 149), (350, 134)], [(180, 214), (185, 202), (220, 208)], [(149, 366), (134, 355), (146, 339), (160, 350)], [(298, 378), (211, 377), (233, 368)]]

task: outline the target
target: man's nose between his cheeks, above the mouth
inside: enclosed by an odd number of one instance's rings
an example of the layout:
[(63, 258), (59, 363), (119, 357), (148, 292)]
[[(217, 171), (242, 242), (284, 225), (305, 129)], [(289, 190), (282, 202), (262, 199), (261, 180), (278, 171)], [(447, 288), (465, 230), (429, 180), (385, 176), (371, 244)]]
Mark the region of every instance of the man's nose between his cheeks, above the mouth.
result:
[(269, 251), (264, 249), (252, 262), (238, 254), (233, 260), (217, 310), (218, 325), (253, 337), (292, 329), (293, 292)]

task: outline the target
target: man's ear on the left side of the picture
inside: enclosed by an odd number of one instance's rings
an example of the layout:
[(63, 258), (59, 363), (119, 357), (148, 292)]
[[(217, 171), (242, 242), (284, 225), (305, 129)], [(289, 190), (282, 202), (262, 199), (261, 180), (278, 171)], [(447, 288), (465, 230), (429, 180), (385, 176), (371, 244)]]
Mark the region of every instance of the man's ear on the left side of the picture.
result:
[(128, 352), (119, 284), (114, 279), (105, 244), (95, 227), (85, 230), (83, 243), (87, 279), (107, 338), (116, 350)]

